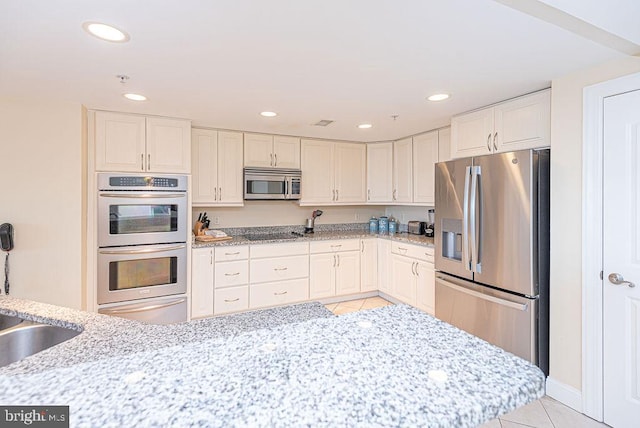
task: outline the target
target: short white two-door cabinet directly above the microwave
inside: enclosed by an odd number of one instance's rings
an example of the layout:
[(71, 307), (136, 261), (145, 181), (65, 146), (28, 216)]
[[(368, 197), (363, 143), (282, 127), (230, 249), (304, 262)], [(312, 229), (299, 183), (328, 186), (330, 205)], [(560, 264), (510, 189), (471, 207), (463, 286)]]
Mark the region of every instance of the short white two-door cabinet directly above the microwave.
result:
[(300, 139), (283, 135), (244, 134), (244, 166), (300, 168)]

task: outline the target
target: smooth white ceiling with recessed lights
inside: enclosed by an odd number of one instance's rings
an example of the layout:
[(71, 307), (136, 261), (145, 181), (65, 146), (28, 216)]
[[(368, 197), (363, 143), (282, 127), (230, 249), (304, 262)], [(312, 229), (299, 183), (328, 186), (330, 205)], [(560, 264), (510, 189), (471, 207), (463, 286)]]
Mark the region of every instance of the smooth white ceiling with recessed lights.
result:
[[(624, 55), (502, 3), (509, 1), (2, 0), (0, 95), (381, 141)], [(115, 25), (131, 41), (90, 37), (84, 21)], [(125, 91), (149, 100), (128, 101)], [(425, 100), (442, 91), (451, 99)], [(264, 110), (279, 115), (263, 118)], [(335, 122), (312, 126), (321, 119)], [(373, 128), (357, 129), (362, 122)]]

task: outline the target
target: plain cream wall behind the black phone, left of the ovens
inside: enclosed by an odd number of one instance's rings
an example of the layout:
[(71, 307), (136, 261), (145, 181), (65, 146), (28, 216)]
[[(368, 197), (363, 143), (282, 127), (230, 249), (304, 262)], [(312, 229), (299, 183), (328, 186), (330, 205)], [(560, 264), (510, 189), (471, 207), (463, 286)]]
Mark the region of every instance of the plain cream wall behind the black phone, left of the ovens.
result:
[(0, 223), (15, 229), (15, 297), (83, 306), (82, 114), (79, 104), (0, 99)]

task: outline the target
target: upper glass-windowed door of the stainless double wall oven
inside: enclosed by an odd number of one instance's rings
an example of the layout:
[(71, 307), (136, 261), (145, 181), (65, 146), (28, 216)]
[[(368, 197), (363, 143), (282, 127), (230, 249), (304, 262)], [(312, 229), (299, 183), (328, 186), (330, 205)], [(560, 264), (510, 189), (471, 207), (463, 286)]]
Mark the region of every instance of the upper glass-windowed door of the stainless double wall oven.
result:
[(186, 242), (186, 192), (100, 191), (98, 246)]

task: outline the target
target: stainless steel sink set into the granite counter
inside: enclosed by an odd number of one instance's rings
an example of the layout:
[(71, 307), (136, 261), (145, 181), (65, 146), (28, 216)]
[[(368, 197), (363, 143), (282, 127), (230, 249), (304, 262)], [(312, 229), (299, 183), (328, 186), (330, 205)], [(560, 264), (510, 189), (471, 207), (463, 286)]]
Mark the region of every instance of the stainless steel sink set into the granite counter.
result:
[(64, 327), (39, 324), (20, 318), (18, 320), (13, 327), (0, 331), (0, 367), (44, 351), (80, 334), (79, 331)]

